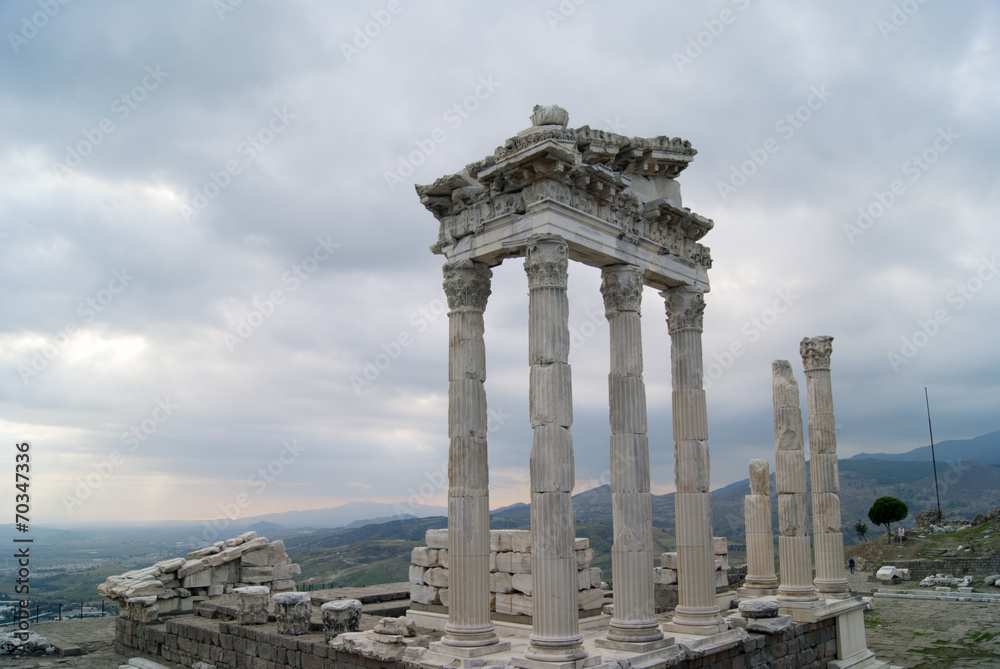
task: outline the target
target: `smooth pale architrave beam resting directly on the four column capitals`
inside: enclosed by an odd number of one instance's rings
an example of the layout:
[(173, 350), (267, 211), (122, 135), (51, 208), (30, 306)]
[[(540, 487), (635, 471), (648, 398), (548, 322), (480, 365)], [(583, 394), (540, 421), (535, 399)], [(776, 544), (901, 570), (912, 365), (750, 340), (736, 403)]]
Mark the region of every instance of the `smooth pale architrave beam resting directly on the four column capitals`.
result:
[(643, 269), (646, 285), (657, 290), (689, 285), (708, 292), (708, 271), (673, 255), (661, 255), (651, 241), (620, 239), (621, 230), (610, 223), (555, 200), (528, 206), (525, 215), (504, 214), (483, 225), (482, 232), (456, 240), (444, 252), (449, 263), (474, 260), (490, 266), (505, 258), (524, 255), (528, 237), (554, 234), (569, 243), (571, 260), (591, 267), (630, 264)]

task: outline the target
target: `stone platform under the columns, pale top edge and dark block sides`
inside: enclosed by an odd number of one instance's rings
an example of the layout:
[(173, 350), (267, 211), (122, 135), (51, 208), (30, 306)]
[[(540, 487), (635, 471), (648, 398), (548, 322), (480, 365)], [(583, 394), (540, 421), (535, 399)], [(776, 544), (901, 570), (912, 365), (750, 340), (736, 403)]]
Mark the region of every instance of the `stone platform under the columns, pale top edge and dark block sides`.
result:
[[(220, 615), (218, 609), (204, 613)], [(660, 617), (661, 624), (667, 619)], [(362, 629), (370, 629), (377, 622), (377, 617), (363, 616)], [(200, 661), (217, 669), (430, 669), (473, 665), (512, 667), (515, 660), (523, 659), (528, 645), (526, 633), (500, 628), (501, 641), (511, 644), (508, 651), (467, 660), (429, 650), (428, 646), (440, 638), (439, 632), (430, 630), (418, 630), (418, 635), (408, 638), (405, 644), (382, 643), (371, 632), (359, 632), (337, 637), (328, 645), (318, 620), (313, 627), (309, 634), (289, 637), (279, 635), (273, 623), (244, 626), (204, 615), (175, 616), (166, 622), (150, 624), (119, 619), (115, 649), (124, 656), (145, 654), (183, 666)], [(577, 669), (584, 669), (584, 665), (595, 669), (613, 666), (821, 669), (835, 661), (838, 652), (836, 618), (790, 623), (775, 633), (734, 628), (714, 637), (676, 635), (674, 645), (646, 653), (598, 647), (596, 641), (606, 635), (604, 629), (583, 630), (583, 634), (583, 645), (590, 659), (579, 662)], [(555, 665), (552, 666), (554, 669)]]

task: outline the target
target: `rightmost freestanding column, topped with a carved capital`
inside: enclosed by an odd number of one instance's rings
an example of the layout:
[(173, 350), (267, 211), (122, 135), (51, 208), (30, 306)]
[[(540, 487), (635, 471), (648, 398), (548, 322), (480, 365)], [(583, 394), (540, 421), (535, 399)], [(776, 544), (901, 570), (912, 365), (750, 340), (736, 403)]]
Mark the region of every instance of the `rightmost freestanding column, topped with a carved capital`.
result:
[(812, 481), (813, 537), (816, 542), (816, 578), (820, 596), (851, 594), (844, 573), (844, 533), (840, 523), (840, 473), (837, 467), (837, 430), (833, 419), (830, 355), (833, 337), (806, 337), (799, 344), (806, 371), (809, 402), (809, 475)]

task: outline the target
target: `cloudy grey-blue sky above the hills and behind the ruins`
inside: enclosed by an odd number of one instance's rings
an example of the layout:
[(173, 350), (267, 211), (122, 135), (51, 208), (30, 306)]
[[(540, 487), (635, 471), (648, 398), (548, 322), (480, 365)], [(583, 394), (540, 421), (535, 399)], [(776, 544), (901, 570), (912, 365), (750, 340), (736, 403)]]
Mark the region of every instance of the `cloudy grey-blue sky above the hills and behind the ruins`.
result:
[[(413, 185), (536, 104), (698, 151), (713, 487), (773, 463), (771, 361), (804, 398), (805, 336), (834, 337), (841, 457), (926, 445), (924, 387), (936, 440), (1000, 429), (994, 2), (10, 0), (0, 29), (0, 471), (29, 445), (32, 523), (443, 504), (443, 258)], [(599, 285), (571, 265), (577, 490), (608, 481)], [(499, 507), (529, 490), (521, 260), (485, 319)]]

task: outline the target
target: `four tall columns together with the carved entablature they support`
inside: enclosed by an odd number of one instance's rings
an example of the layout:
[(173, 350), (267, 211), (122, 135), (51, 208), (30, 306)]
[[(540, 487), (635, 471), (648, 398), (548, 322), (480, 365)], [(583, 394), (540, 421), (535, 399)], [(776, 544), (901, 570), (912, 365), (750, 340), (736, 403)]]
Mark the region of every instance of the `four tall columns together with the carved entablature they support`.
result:
[[(600, 645), (655, 650), (671, 643), (653, 611), (652, 516), (639, 311), (643, 286), (661, 291), (671, 339), (679, 602), (668, 630), (726, 630), (715, 592), (702, 314), (711, 256), (707, 218), (681, 206), (676, 177), (694, 158), (677, 138), (624, 137), (567, 127), (559, 107), (494, 155), (417, 191), (440, 221), (446, 259), (449, 358), (450, 606), (436, 650), (487, 654), (489, 504), (483, 310), (490, 268), (524, 258), (528, 279), (531, 540), (534, 615), (525, 665), (588, 657), (577, 616), (572, 382), (566, 296), (569, 261), (601, 269), (611, 325), (609, 370), (614, 510), (614, 614)], [(597, 658), (594, 658), (595, 660)]]

